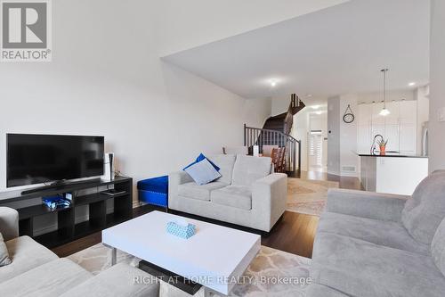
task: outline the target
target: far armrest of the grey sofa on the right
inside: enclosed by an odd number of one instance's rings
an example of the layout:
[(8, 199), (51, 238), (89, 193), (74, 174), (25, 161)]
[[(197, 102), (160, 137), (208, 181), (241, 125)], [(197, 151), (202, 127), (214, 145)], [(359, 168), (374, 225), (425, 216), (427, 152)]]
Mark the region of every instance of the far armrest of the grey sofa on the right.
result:
[(346, 215), (401, 221), (401, 210), (409, 199), (406, 195), (329, 189), (326, 210)]

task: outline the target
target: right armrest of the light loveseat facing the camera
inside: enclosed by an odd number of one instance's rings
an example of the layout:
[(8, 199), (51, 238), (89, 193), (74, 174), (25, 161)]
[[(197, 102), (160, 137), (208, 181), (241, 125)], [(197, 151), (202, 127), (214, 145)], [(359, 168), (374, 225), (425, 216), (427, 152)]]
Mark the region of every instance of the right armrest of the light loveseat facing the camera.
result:
[(287, 175), (284, 173), (272, 173), (252, 185), (252, 210), (270, 217), (269, 230), (286, 210), (286, 201)]

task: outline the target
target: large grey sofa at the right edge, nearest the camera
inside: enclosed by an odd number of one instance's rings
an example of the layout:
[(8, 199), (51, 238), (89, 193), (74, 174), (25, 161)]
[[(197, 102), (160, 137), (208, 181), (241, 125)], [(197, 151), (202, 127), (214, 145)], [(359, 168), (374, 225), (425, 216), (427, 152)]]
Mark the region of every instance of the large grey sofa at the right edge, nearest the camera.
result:
[(445, 171), (412, 196), (330, 190), (308, 296), (445, 296)]

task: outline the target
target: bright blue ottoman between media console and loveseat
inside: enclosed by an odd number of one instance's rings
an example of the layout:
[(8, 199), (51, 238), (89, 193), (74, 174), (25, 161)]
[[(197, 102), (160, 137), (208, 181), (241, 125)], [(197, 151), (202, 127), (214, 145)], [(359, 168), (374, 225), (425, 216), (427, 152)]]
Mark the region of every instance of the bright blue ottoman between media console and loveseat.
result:
[(138, 182), (139, 202), (168, 208), (168, 176)]

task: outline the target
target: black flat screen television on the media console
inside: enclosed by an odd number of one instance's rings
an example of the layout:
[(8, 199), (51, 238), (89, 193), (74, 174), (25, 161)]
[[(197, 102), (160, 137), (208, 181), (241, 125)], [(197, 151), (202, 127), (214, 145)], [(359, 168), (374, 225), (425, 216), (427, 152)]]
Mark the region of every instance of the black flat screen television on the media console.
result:
[(6, 186), (103, 175), (103, 136), (6, 135)]

